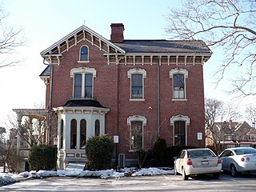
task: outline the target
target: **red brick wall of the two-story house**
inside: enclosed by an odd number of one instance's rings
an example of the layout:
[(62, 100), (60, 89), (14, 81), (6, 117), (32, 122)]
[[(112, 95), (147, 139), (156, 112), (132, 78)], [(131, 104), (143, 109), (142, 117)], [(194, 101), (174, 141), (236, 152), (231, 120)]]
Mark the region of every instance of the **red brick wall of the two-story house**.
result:
[[(89, 48), (90, 62), (78, 62), (79, 50), (82, 45)], [(106, 134), (119, 135), (118, 153), (125, 153), (129, 158), (130, 127), (127, 126), (127, 118), (133, 115), (146, 117), (144, 127), (144, 146), (153, 147), (153, 142), (158, 134), (157, 122), (157, 62), (153, 65), (107, 65), (105, 52), (88, 41), (79, 42), (70, 50), (64, 52), (60, 65), (54, 65), (53, 99), (52, 106), (63, 106), (73, 96), (73, 78), (70, 78), (70, 70), (78, 67), (90, 67), (96, 70), (94, 78), (94, 98), (110, 109), (106, 114)], [(144, 78), (145, 101), (130, 101), (130, 78), (127, 71), (134, 67), (146, 70)], [(181, 67), (188, 71), (186, 78), (187, 101), (172, 101), (172, 79), (170, 70)], [(170, 118), (178, 114), (190, 118), (190, 126), (187, 127), (187, 142), (189, 146), (198, 146), (197, 133), (204, 134), (204, 95), (202, 65), (164, 65), (160, 67), (160, 137), (166, 139), (167, 146), (173, 145), (173, 126), (170, 126)], [(46, 94), (49, 94), (47, 86)], [(49, 102), (46, 96), (46, 103)], [(46, 105), (47, 106), (47, 105)], [(204, 140), (202, 140), (204, 141)], [(203, 142), (204, 143), (204, 142)], [(204, 144), (203, 144), (204, 145)]]

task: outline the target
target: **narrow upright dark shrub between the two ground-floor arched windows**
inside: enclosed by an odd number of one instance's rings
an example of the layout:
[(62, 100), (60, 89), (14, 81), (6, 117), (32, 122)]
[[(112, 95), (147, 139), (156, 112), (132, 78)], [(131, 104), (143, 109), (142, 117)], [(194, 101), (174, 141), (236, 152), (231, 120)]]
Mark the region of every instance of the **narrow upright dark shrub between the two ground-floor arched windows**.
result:
[(154, 142), (154, 162), (156, 166), (166, 166), (166, 140), (163, 138), (158, 138), (156, 142)]

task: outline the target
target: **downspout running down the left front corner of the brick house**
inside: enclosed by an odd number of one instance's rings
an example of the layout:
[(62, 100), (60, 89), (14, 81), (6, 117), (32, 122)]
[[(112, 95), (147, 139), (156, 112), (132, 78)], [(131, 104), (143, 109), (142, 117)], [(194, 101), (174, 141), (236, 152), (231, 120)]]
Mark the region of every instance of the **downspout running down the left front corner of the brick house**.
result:
[(48, 126), (47, 126), (47, 143), (50, 144), (50, 131), (51, 131), (51, 108), (52, 108), (52, 87), (53, 87), (53, 74), (54, 74), (54, 66), (51, 63), (45, 62), (46, 58), (43, 58), (43, 64), (50, 66), (50, 95), (49, 95), (49, 120), (48, 120)]

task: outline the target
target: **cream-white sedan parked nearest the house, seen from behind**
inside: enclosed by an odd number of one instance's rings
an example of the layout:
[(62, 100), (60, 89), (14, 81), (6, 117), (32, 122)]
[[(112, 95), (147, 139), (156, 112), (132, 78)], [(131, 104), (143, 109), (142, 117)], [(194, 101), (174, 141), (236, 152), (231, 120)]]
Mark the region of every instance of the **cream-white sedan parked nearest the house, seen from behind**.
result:
[(214, 178), (219, 178), (222, 171), (221, 158), (208, 148), (182, 150), (174, 159), (174, 174), (182, 174), (184, 180), (198, 174), (214, 174)]

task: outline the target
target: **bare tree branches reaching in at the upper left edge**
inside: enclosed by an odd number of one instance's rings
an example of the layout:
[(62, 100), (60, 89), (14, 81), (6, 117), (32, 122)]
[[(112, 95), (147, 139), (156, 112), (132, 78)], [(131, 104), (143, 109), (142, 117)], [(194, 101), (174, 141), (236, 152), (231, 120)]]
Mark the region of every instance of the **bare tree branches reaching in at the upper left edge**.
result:
[(0, 68), (5, 66), (14, 66), (22, 60), (13, 60), (9, 55), (14, 54), (18, 47), (23, 46), (25, 40), (19, 36), (22, 30), (15, 30), (14, 27), (7, 26), (5, 22), (6, 12), (0, 4)]

